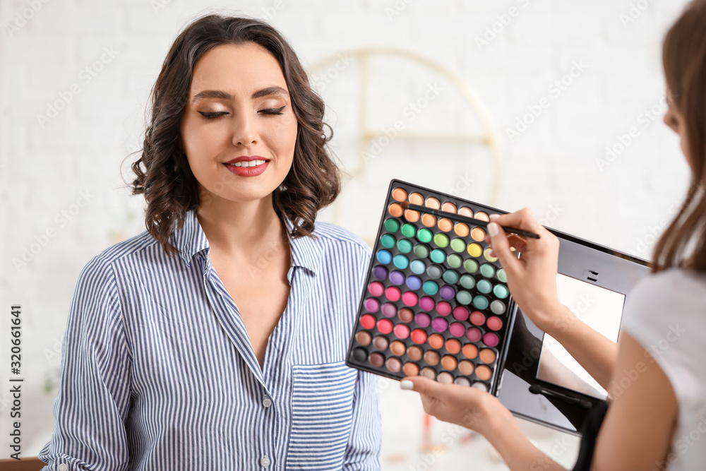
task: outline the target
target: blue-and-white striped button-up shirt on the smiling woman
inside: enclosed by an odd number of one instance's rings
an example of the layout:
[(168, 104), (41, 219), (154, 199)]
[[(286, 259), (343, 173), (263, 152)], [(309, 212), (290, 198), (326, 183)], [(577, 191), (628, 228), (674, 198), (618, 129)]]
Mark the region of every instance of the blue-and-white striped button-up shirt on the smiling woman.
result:
[[(291, 222), (287, 221), (291, 228)], [(260, 368), (195, 211), (81, 271), (44, 470), (378, 470), (375, 377), (344, 363), (370, 249), (290, 238), (287, 308)]]

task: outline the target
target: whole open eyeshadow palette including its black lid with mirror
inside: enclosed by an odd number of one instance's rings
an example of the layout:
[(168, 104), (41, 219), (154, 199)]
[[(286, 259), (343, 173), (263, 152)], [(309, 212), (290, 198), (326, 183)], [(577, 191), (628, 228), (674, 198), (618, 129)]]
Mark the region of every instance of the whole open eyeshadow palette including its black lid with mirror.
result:
[[(580, 434), (604, 396), (513, 302), (483, 223), (458, 218), (488, 222), (506, 212), (400, 180), (387, 194), (347, 365), (486, 390), (517, 417)], [(581, 307), (592, 328), (616, 333), (624, 300), (649, 275), (649, 263), (547, 229), (561, 239), (562, 303)], [(586, 311), (584, 299), (602, 301)]]

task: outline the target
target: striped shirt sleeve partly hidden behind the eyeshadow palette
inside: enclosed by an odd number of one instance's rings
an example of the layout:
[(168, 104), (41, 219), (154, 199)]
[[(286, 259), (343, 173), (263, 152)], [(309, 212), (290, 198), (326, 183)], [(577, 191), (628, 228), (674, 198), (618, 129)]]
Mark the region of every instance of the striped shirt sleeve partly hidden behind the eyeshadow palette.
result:
[[(361, 251), (357, 266), (359, 293), (364, 288), (370, 261), (371, 251), (366, 247)], [(343, 458), (344, 471), (380, 469), (382, 419), (378, 401), (378, 377), (358, 371), (353, 395), (352, 431)]]

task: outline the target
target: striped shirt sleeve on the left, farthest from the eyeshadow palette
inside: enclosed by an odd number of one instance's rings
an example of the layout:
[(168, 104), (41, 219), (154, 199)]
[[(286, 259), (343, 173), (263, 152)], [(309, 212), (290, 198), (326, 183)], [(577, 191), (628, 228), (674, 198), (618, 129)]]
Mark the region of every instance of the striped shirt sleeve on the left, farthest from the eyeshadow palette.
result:
[(125, 422), (130, 354), (112, 266), (83, 268), (61, 347), (52, 439), (39, 454), (49, 470), (127, 470)]

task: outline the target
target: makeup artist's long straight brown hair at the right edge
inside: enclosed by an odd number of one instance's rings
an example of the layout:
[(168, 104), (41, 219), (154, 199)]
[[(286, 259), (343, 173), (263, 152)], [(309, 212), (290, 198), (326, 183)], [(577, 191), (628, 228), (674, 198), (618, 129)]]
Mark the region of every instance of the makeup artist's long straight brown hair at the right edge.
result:
[[(683, 117), (690, 162), (686, 200), (654, 248), (654, 272), (678, 266), (706, 271), (706, 0), (692, 1), (662, 48), (666, 85)], [(686, 134), (686, 136), (684, 135)], [(693, 253), (687, 253), (694, 244)]]

